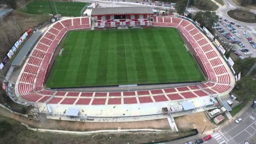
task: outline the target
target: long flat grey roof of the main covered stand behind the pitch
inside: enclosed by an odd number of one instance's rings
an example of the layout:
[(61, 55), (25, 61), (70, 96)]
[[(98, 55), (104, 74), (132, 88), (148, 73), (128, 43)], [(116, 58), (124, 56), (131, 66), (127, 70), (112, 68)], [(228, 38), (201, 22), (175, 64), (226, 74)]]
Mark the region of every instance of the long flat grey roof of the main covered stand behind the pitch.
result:
[(150, 7), (93, 8), (91, 16), (106, 14), (154, 14), (154, 12)]

